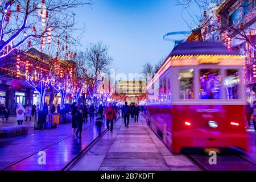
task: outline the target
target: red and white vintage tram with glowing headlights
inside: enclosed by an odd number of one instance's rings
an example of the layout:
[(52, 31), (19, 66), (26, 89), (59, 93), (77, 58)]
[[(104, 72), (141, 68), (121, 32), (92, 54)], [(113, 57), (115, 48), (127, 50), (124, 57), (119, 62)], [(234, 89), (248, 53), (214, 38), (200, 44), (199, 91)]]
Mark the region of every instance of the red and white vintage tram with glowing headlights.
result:
[(212, 42), (177, 45), (147, 86), (147, 123), (175, 153), (247, 151), (243, 56)]

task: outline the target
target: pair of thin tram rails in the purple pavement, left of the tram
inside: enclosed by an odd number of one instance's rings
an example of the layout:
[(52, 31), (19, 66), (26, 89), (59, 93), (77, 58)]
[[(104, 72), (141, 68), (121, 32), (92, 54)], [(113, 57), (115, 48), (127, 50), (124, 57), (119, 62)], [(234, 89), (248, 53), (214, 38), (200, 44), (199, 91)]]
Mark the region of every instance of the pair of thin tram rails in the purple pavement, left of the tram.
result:
[[(119, 119), (119, 117), (117, 118), (116, 121), (118, 121), (118, 119)], [(116, 121), (115, 121), (115, 122), (116, 122)], [(114, 122), (114, 123), (115, 123), (115, 122)], [(83, 130), (88, 129), (89, 127), (92, 127), (92, 125), (90, 125), (90, 126), (88, 126), (88, 127), (85, 127)], [(95, 142), (97, 142), (97, 140), (98, 140), (103, 134), (106, 133), (106, 130), (107, 130), (107, 129), (105, 129), (104, 131), (102, 131), (102, 133), (101, 133), (100, 136), (98, 136), (98, 137), (96, 137), (95, 139), (93, 139), (92, 142), (90, 142), (90, 143), (88, 144), (88, 146), (86, 146), (86, 147), (84, 148), (84, 150), (82, 150), (82, 151), (80, 152), (80, 154), (78, 154), (77, 156), (81, 155), (81, 153), (82, 153), (83, 151), (86, 151), (88, 148), (90, 148), (90, 146), (92, 146)], [(60, 142), (63, 142), (65, 139), (68, 139), (68, 138), (71, 138), (71, 137), (72, 137), (72, 135), (69, 135), (68, 137), (65, 137), (65, 138), (63, 138), (63, 139), (60, 139), (60, 140), (58, 140), (57, 142), (54, 142), (54, 143), (52, 143), (52, 144), (49, 144), (49, 145), (46, 146), (46, 147), (41, 148), (40, 150), (34, 151), (34, 152), (32, 152), (31, 154), (29, 154), (29, 155), (27, 155), (27, 156), (24, 156), (24, 158), (22, 158), (22, 159), (16, 160), (15, 162), (10, 163), (10, 164), (8, 164), (8, 165), (5, 166), (5, 167), (0, 168), (0, 171), (5, 171), (6, 169), (8, 169), (8, 168), (10, 168), (10, 167), (12, 167), (12, 166), (15, 166), (16, 164), (21, 163), (21, 162), (23, 162), (24, 160), (30, 158), (31, 156), (34, 156), (34, 155), (38, 154), (38, 152), (43, 151), (43, 150), (46, 150), (47, 148), (52, 147), (52, 146), (54, 146), (55, 144), (58, 144), (58, 143), (60, 143)], [(75, 160), (75, 159), (77, 158), (77, 156), (76, 156), (75, 158), (73, 158), (73, 159), (71, 160), (71, 162), (69, 162), (69, 163), (72, 163), (72, 161)], [(65, 171), (64, 169), (69, 165), (69, 163), (68, 163), (63, 169), (61, 169), (61, 171)]]

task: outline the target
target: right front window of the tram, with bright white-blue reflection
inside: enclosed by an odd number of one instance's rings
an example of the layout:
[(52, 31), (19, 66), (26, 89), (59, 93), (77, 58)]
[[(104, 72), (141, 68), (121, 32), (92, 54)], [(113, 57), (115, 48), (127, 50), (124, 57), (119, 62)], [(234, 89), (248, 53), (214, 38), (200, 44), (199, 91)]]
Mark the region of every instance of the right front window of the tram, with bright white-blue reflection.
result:
[(240, 99), (239, 94), (239, 84), (241, 78), (237, 69), (227, 69), (227, 76), (224, 80), (224, 85), (226, 89), (226, 99)]

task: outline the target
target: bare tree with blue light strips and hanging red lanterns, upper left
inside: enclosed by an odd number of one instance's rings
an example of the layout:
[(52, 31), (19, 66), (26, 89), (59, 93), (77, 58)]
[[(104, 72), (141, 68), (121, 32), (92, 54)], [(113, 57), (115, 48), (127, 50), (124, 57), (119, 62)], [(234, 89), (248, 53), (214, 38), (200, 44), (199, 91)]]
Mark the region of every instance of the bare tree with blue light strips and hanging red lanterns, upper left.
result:
[(60, 49), (63, 50), (62, 46), (68, 51), (67, 44), (76, 43), (76, 39), (71, 36), (73, 26), (76, 24), (76, 14), (73, 10), (91, 4), (90, 0), (2, 1), (0, 58), (18, 48), (26, 50), (35, 46), (46, 50), (50, 44), (56, 44), (56, 52), (59, 49), (60, 53)]

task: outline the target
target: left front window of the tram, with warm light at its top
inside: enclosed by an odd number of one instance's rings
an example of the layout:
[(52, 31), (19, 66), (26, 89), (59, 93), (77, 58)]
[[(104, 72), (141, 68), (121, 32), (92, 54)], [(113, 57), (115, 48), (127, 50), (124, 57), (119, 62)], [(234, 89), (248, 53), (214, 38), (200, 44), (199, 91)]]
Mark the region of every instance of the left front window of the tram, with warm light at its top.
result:
[(194, 69), (180, 69), (179, 83), (180, 83), (180, 99), (193, 99), (193, 77)]

